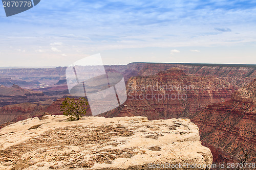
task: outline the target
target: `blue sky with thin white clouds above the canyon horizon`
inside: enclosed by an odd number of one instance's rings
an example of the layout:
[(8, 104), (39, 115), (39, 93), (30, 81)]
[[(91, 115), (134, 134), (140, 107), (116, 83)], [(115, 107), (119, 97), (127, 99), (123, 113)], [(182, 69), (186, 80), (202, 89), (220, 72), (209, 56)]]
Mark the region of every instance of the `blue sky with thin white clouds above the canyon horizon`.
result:
[(103, 64), (256, 64), (256, 1), (62, 0), (6, 17), (0, 67)]

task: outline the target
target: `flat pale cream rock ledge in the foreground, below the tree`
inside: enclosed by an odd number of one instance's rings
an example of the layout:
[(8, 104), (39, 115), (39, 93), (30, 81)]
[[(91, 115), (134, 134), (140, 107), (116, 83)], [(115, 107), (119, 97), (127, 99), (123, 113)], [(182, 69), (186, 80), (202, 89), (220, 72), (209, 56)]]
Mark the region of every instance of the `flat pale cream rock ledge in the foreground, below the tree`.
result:
[(46, 115), (0, 131), (0, 169), (152, 169), (161, 164), (170, 168), (158, 169), (206, 169), (211, 163), (211, 152), (189, 119), (83, 117), (67, 122), (66, 116)]

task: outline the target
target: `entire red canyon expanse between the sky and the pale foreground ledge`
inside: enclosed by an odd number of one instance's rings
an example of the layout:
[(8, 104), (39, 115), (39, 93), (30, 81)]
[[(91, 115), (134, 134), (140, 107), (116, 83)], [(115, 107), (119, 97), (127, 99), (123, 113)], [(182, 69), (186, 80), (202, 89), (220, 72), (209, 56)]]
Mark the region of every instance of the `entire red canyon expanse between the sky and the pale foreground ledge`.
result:
[[(104, 67), (106, 72), (123, 75), (128, 99), (98, 116), (189, 118), (199, 126), (202, 144), (210, 148), (214, 162), (238, 162), (243, 149), (251, 148), (255, 155), (255, 65), (130, 63)], [(29, 117), (62, 114), (60, 105), (69, 96), (65, 70), (1, 69), (0, 129)], [(29, 91), (18, 97), (6, 94), (8, 88)], [(31, 95), (25, 97), (25, 93)], [(91, 116), (90, 107), (87, 116)]]

